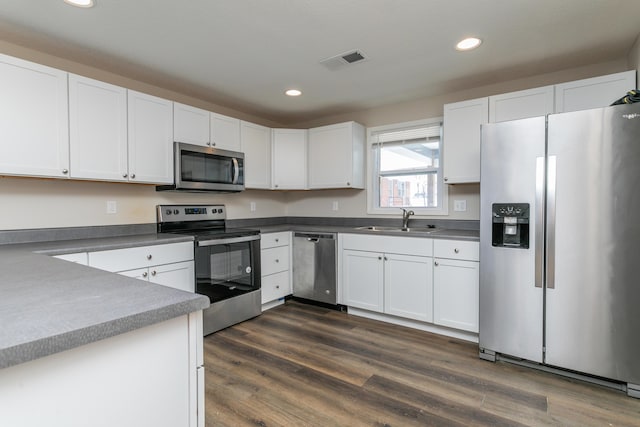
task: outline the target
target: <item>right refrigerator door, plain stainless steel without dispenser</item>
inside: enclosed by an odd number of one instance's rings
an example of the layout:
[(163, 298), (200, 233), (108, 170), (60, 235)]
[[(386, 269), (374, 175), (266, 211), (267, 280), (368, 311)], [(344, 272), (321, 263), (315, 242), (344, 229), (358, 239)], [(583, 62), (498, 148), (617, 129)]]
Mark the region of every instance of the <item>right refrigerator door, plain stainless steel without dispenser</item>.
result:
[(639, 384), (640, 104), (551, 115), (548, 126), (545, 363)]

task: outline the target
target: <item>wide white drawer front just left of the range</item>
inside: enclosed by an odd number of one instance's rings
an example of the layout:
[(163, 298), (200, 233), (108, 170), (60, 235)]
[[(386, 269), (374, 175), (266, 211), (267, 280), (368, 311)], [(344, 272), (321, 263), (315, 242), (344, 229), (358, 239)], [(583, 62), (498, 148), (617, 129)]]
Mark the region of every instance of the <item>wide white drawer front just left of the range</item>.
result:
[(193, 242), (89, 252), (91, 267), (113, 272), (192, 260)]

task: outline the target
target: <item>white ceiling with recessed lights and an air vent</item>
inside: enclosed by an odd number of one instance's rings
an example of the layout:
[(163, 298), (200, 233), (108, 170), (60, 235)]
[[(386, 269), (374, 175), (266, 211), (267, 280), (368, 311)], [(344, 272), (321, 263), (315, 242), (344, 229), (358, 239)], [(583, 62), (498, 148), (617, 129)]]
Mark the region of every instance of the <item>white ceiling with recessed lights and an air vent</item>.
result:
[[(639, 16), (637, 0), (3, 0), (0, 38), (294, 124), (619, 60)], [(320, 63), (353, 49), (367, 59)]]

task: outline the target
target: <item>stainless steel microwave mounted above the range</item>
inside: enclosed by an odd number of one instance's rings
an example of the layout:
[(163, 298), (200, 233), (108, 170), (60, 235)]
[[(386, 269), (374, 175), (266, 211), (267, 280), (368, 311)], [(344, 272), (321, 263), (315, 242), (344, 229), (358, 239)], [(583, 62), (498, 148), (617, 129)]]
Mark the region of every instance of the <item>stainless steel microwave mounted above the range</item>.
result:
[(244, 153), (176, 142), (173, 160), (173, 184), (159, 185), (156, 190), (219, 193), (244, 190)]

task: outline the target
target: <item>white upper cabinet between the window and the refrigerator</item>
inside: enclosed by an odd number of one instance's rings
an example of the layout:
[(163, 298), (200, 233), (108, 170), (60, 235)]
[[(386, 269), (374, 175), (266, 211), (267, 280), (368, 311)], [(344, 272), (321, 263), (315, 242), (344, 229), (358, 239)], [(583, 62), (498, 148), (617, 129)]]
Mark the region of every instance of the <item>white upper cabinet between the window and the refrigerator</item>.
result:
[(480, 126), (489, 120), (488, 98), (444, 106), (444, 182), (480, 182)]

